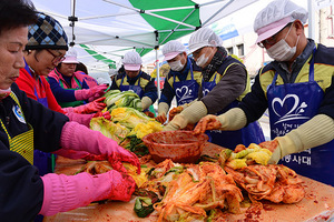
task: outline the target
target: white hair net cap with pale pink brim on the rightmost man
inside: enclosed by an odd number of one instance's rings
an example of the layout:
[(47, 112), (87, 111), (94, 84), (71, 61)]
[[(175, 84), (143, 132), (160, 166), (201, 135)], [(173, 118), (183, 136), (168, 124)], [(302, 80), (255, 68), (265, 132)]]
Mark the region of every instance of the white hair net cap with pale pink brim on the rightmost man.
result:
[(307, 20), (307, 11), (289, 0), (275, 0), (257, 13), (254, 21), (254, 31), (258, 38), (256, 43), (268, 39), (286, 24), (301, 20), (304, 24)]

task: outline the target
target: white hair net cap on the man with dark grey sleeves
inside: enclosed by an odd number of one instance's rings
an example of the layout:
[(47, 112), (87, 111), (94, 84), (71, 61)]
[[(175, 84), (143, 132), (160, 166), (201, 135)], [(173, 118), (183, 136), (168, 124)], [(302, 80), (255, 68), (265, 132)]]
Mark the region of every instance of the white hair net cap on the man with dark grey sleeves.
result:
[(193, 53), (203, 47), (219, 47), (223, 40), (209, 28), (200, 28), (189, 39), (189, 52)]

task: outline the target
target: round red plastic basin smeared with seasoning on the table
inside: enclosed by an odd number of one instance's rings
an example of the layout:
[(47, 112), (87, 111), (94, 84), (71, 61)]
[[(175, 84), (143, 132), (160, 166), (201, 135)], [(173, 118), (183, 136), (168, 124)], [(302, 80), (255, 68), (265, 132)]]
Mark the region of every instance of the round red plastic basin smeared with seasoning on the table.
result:
[(195, 163), (208, 140), (206, 134), (194, 135), (193, 131), (165, 131), (143, 138), (153, 160), (159, 163), (171, 159), (177, 163)]

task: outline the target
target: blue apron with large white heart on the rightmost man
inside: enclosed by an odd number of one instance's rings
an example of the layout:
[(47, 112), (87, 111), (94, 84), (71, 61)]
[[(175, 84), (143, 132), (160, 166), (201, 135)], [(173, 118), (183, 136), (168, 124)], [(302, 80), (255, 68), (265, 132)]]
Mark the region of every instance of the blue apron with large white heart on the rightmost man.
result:
[[(310, 61), (308, 82), (275, 85), (275, 73), (267, 90), (272, 139), (285, 135), (317, 114), (324, 97), (321, 87), (314, 81), (314, 54)], [(334, 185), (334, 141), (284, 157), (279, 163), (298, 174)]]

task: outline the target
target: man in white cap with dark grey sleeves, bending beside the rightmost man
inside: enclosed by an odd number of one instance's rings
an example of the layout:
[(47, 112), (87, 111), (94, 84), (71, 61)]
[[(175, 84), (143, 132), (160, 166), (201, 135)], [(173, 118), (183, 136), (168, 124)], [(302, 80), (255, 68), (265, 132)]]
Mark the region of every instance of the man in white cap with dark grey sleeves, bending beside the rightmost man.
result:
[[(184, 129), (197, 123), (206, 114), (223, 113), (236, 107), (249, 92), (250, 84), (245, 65), (227, 54), (222, 39), (209, 28), (200, 28), (189, 39), (189, 52), (202, 67), (202, 87), (198, 101), (185, 108), (164, 128), (164, 130)], [(238, 131), (210, 131), (210, 142), (235, 149), (237, 144), (248, 145), (264, 141), (258, 122), (250, 123)]]

